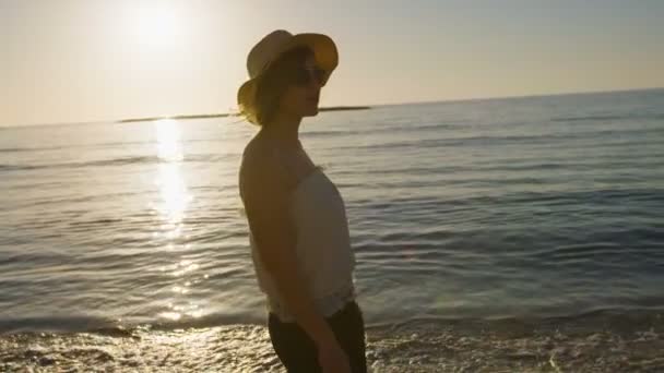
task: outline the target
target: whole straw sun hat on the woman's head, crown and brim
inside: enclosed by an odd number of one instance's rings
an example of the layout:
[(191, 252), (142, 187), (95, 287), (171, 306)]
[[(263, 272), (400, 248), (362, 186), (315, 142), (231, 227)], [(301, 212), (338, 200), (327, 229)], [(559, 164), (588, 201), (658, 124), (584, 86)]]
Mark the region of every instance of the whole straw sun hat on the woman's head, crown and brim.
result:
[(318, 68), (325, 71), (324, 82), (339, 64), (339, 55), (334, 41), (322, 34), (296, 34), (293, 35), (284, 29), (277, 29), (263, 37), (247, 56), (247, 72), (249, 80), (240, 86), (237, 92), (237, 104), (247, 119), (257, 123), (256, 118), (256, 91), (258, 81), (268, 71), (270, 65), (284, 52), (298, 48), (308, 47), (313, 52), (313, 59)]

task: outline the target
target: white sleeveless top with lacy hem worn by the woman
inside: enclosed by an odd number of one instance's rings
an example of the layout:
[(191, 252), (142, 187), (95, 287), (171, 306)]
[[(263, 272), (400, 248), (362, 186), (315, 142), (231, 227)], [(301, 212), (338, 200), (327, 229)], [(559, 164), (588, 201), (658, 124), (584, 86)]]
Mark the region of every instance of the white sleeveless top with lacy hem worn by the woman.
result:
[[(351, 249), (343, 198), (332, 181), (317, 168), (295, 188), (289, 207), (299, 268), (318, 311), (325, 317), (330, 316), (355, 298), (355, 255)], [(249, 241), (259, 286), (268, 297), (270, 312), (283, 322), (293, 322), (294, 317), (281, 300), (272, 276), (261, 264), (251, 234)]]

